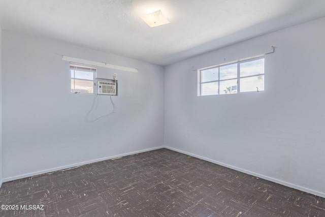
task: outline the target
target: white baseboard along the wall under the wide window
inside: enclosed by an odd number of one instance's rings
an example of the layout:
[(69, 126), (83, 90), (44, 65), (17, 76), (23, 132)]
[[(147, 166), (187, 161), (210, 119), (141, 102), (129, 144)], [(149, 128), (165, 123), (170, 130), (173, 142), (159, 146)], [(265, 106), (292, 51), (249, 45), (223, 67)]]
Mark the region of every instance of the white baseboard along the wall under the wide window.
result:
[(269, 181), (273, 181), (275, 183), (285, 185), (286, 187), (289, 187), (289, 188), (297, 189), (297, 190), (300, 190), (300, 191), (303, 191), (303, 192), (307, 192), (309, 194), (313, 194), (313, 195), (317, 195), (319, 197), (325, 198), (325, 193), (317, 192), (317, 191), (314, 191), (314, 190), (311, 190), (311, 189), (301, 187), (301, 186), (296, 185), (296, 184), (291, 184), (291, 183), (281, 181), (279, 179), (275, 179), (275, 178), (272, 178), (272, 177), (269, 177), (269, 176), (261, 175), (261, 174), (254, 173), (254, 172), (251, 172), (251, 171), (248, 171), (248, 170), (245, 170), (245, 169), (234, 167), (232, 165), (228, 165), (228, 164), (224, 164), (224, 163), (221, 163), (221, 162), (218, 162), (218, 161), (214, 161), (214, 160), (211, 160), (209, 158), (198, 156), (197, 154), (189, 153), (189, 152), (182, 151), (182, 150), (172, 148), (172, 147), (169, 147), (169, 146), (165, 146), (165, 148), (173, 150), (173, 151), (177, 151), (177, 152), (180, 152), (180, 153), (183, 153), (183, 154), (187, 154), (187, 155), (192, 156), (194, 158), (199, 158), (199, 159), (202, 159), (202, 160), (214, 163), (214, 164), (218, 164), (218, 165), (221, 165), (221, 166), (224, 166), (224, 167), (228, 167), (230, 169), (234, 169), (234, 170), (237, 170), (237, 171), (240, 171), (240, 172), (243, 172), (243, 173), (247, 173), (249, 175), (253, 175), (253, 176), (256, 176), (258, 178), (263, 178), (263, 179), (266, 179), (266, 180), (269, 180)]

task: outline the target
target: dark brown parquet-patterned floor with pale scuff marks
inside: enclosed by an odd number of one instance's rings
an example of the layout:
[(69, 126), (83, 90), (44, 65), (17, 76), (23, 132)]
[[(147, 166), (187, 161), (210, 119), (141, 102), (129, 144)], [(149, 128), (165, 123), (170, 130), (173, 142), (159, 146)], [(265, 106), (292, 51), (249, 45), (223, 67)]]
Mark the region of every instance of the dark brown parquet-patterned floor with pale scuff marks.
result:
[(5, 182), (0, 201), (16, 217), (325, 216), (325, 198), (165, 148)]

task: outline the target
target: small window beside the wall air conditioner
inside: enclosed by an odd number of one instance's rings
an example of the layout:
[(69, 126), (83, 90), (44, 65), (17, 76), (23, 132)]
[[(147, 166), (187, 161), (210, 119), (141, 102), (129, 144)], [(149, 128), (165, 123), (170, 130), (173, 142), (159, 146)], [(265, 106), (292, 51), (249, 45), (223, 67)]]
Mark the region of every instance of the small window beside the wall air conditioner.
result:
[(74, 94), (93, 94), (93, 77), (96, 68), (93, 66), (70, 64), (71, 92)]

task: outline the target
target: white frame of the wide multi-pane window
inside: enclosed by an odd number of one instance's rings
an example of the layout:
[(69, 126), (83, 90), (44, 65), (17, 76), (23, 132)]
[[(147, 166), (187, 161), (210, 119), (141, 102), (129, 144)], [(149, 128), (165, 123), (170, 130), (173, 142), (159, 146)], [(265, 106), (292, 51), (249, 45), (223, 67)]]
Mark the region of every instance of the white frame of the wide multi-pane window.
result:
[[(249, 62), (249, 61), (254, 61), (254, 60), (257, 60), (257, 59), (264, 59), (265, 60), (265, 56), (262, 55), (262, 56), (258, 56), (258, 57), (250, 57), (250, 58), (246, 58), (244, 60), (232, 61), (232, 62), (229, 62), (229, 63), (220, 64), (220, 65), (216, 65), (216, 66), (213, 66), (213, 67), (207, 67), (207, 68), (199, 69), (198, 70), (198, 81), (199, 81), (198, 82), (198, 96), (203, 97), (203, 96), (220, 95), (220, 81), (229, 81), (229, 80), (236, 80), (236, 79), (237, 79), (237, 92), (234, 93), (234, 94), (242, 94), (242, 93), (244, 93), (244, 92), (240, 91), (240, 79), (241, 78), (249, 78), (249, 77), (262, 76), (262, 75), (264, 75), (264, 78), (265, 78), (265, 71), (264, 71), (263, 74), (256, 74), (256, 75), (249, 75), (249, 76), (240, 77), (240, 64), (246, 63), (246, 62)], [(220, 80), (220, 67), (234, 65), (234, 64), (237, 64), (237, 78), (230, 78), (230, 79)], [(209, 69), (216, 69), (216, 68), (218, 68), (218, 80), (202, 82), (202, 71), (209, 70)], [(264, 62), (264, 68), (265, 68), (265, 62)], [(218, 93), (214, 94), (214, 95), (202, 95), (202, 84), (213, 83), (213, 82), (218, 82)], [(245, 91), (245, 93), (246, 92), (264, 92), (264, 90), (257, 90), (256, 89), (256, 91)]]

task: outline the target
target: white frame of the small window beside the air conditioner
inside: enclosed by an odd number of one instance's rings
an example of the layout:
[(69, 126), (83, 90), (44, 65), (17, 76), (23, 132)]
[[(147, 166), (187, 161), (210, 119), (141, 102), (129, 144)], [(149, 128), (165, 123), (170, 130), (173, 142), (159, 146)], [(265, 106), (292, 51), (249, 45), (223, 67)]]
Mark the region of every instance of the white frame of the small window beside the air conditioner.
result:
[[(91, 72), (92, 73), (92, 80), (89, 79), (81, 79), (81, 78), (72, 78), (71, 77), (71, 70), (78, 70), (79, 71), (85, 71), (85, 72)], [(85, 70), (88, 69), (88, 70)], [(80, 64), (80, 63), (73, 63), (70, 62), (70, 68), (69, 68), (69, 73), (70, 73), (70, 93), (71, 94), (82, 94), (82, 95), (94, 95), (95, 94), (95, 86), (94, 86), (94, 80), (95, 80), (95, 73), (96, 73), (96, 67), (95, 66), (90, 66), (90, 65), (85, 65), (85, 64)], [(92, 82), (92, 92), (86, 93), (86, 92), (73, 92), (73, 88), (71, 85), (72, 79), (74, 80), (83, 80), (83, 81), (91, 81)]]

